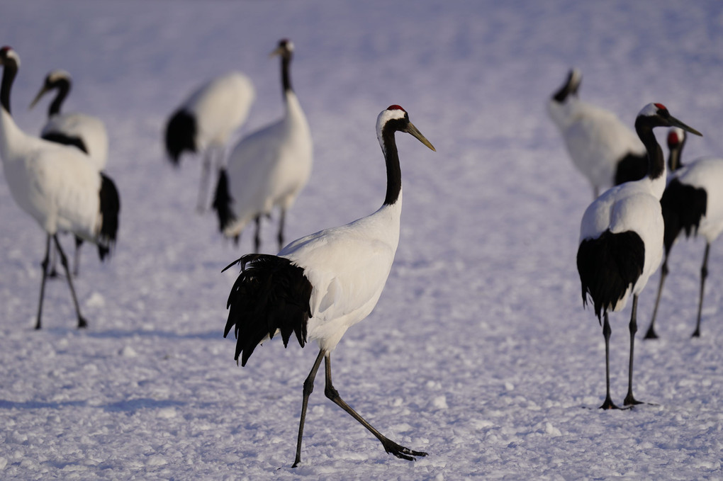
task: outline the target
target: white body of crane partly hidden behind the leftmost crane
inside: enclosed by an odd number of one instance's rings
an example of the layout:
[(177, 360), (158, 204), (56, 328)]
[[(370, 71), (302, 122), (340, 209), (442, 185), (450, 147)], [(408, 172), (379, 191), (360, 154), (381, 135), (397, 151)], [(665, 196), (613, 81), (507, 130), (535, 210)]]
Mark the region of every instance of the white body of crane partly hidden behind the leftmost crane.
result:
[(48, 134), (64, 134), (82, 139), (87, 148), (87, 155), (93, 160), (97, 170), (103, 170), (108, 164), (108, 131), (106, 124), (95, 116), (85, 113), (59, 113), (48, 118), (48, 122), (40, 132)]

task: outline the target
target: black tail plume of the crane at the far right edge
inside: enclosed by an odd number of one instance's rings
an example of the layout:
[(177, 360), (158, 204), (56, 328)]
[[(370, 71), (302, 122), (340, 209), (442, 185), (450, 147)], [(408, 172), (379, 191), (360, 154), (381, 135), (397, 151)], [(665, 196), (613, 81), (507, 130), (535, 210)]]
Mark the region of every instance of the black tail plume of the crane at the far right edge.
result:
[(706, 215), (707, 205), (708, 194), (704, 189), (686, 186), (677, 178), (670, 181), (660, 199), (665, 221), (665, 254), (670, 253), (681, 230), (685, 230), (686, 237), (690, 237), (690, 233), (698, 233), (698, 226), (701, 225), (701, 218)]

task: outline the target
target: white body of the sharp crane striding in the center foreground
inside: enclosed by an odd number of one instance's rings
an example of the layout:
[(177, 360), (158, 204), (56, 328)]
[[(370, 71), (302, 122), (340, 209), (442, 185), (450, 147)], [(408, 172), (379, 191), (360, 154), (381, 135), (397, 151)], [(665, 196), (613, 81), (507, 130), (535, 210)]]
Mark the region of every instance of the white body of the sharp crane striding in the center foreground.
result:
[(312, 283), (308, 338), (331, 352), (350, 326), (369, 316), (382, 295), (399, 243), (401, 193), (395, 204), (341, 227), (321, 230), (278, 256)]

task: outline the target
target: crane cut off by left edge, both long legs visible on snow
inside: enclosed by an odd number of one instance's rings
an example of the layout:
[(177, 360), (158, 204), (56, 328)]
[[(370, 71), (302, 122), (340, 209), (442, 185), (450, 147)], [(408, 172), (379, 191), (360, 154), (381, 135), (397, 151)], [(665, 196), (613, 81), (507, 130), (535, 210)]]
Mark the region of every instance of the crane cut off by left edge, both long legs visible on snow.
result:
[(35, 329), (40, 329), (41, 325), (51, 240), (67, 273), (78, 327), (86, 327), (87, 321), (80, 313), (68, 261), (57, 234), (69, 232), (97, 244), (100, 259), (105, 259), (116, 241), (120, 210), (118, 191), (111, 178), (98, 172), (90, 158), (79, 149), (27, 135), (17, 126), (10, 114), (10, 92), (20, 67), (20, 57), (12, 48), (3, 47), (0, 65), (3, 66), (0, 157), (5, 180), (17, 205), (47, 233)]

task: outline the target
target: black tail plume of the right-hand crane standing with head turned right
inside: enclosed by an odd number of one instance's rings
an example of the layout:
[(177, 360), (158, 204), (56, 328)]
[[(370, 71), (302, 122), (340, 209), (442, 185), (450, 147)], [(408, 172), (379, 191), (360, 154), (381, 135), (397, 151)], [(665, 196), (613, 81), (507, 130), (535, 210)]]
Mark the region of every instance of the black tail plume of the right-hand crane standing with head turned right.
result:
[(590, 295), (598, 321), (602, 313), (614, 308), (630, 285), (643, 273), (645, 244), (628, 230), (613, 234), (606, 230), (599, 238), (586, 239), (578, 248), (578, 273), (582, 285), (583, 306)]

